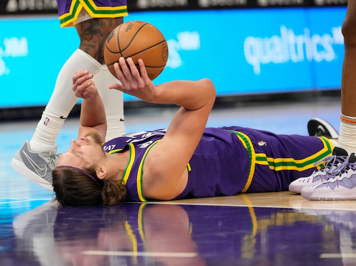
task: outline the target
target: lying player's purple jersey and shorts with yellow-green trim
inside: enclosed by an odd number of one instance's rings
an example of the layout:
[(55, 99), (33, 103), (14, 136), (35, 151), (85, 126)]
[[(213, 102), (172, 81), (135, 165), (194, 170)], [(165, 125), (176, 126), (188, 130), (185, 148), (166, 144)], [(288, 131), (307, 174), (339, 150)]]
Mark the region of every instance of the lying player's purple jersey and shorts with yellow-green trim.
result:
[[(144, 158), (164, 134), (164, 129), (140, 131), (104, 144), (110, 153), (130, 149), (123, 177), (127, 201), (146, 201), (142, 192)], [(187, 165), (187, 186), (174, 200), (287, 190), (293, 180), (309, 176), (316, 169), (314, 163), (332, 150), (326, 138), (276, 135), (238, 126), (206, 128)]]

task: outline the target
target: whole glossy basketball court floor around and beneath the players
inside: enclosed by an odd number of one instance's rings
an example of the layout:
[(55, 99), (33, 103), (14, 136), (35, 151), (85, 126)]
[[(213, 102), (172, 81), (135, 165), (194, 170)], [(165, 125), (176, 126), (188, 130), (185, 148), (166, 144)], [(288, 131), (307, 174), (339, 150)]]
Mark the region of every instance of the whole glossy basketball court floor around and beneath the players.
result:
[[(127, 132), (167, 126), (170, 109), (127, 112)], [(338, 99), (217, 109), (208, 126), (306, 135), (312, 117), (339, 127)], [(356, 202), (289, 191), (114, 207), (63, 208), (10, 161), (37, 121), (0, 123), (0, 265), (356, 265)], [(76, 138), (66, 121), (58, 152)]]

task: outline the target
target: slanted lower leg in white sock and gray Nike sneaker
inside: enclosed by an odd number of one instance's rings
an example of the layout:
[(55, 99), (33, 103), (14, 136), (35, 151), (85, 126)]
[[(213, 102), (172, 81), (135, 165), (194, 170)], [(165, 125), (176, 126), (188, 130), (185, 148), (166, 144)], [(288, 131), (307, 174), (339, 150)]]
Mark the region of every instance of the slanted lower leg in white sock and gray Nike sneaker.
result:
[(52, 96), (30, 141), (25, 141), (11, 161), (12, 168), (39, 185), (52, 189), (52, 169), (56, 161), (54, 142), (78, 98), (72, 90), (71, 76), (77, 67), (96, 74), (101, 64), (77, 49), (58, 74)]

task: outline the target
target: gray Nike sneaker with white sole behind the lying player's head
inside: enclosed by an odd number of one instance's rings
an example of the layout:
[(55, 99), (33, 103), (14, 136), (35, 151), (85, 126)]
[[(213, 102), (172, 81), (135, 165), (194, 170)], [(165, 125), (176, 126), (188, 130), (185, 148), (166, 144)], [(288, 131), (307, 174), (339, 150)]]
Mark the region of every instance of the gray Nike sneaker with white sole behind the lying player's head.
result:
[(11, 167), (20, 175), (53, 191), (52, 170), (57, 161), (57, 145), (40, 153), (29, 150), (29, 142), (26, 141), (11, 161)]

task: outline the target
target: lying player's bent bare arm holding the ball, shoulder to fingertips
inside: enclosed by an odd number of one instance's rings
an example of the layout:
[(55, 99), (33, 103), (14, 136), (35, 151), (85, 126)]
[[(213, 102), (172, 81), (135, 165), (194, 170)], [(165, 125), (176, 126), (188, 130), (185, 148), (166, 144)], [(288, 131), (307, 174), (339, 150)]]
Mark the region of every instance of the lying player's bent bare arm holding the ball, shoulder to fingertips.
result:
[(209, 79), (171, 81), (155, 86), (138, 60), (141, 76), (131, 58), (120, 58), (114, 65), (122, 85), (109, 88), (151, 103), (173, 103), (181, 106), (172, 119), (164, 138), (148, 153), (143, 165), (143, 194), (152, 200), (170, 200), (187, 184), (187, 164), (205, 129), (215, 102), (215, 87)]

